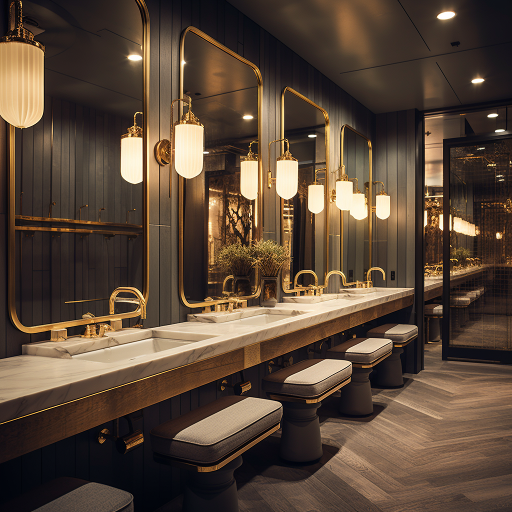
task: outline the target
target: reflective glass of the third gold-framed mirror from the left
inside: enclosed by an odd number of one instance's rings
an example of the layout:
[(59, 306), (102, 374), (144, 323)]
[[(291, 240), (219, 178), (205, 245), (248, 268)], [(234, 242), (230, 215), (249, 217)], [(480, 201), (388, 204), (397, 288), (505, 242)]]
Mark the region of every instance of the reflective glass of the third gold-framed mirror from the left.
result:
[[(290, 153), (298, 160), (298, 193), (282, 200), (282, 243), (290, 248), (291, 263), (283, 267), (283, 282), (291, 281), (301, 270), (313, 270), (323, 282), (328, 271), (327, 216), (325, 208), (326, 168), (328, 168), (329, 115), (305, 96), (285, 88), (281, 97), (282, 137), (289, 140)], [(322, 169), (322, 170), (320, 170)], [(318, 214), (308, 209), (308, 186), (324, 185), (324, 208)], [(314, 283), (312, 274), (303, 274), (299, 284)]]

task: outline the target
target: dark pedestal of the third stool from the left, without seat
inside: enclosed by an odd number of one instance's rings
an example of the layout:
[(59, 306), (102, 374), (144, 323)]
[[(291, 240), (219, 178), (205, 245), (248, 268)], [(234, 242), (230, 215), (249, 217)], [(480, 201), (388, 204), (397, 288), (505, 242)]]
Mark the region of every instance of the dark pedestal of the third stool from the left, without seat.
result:
[(322, 402), (283, 402), (280, 455), (292, 462), (309, 462), (322, 457), (320, 422), (316, 410)]

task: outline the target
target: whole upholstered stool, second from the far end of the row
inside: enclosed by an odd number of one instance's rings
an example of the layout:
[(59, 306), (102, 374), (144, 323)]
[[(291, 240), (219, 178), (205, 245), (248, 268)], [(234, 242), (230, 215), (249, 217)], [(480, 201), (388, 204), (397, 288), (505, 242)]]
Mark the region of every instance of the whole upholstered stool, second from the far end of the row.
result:
[(339, 412), (351, 416), (373, 413), (372, 389), (368, 378), (372, 368), (386, 359), (393, 342), (382, 338), (352, 338), (327, 351), (327, 357), (352, 362), (350, 384), (342, 389)]

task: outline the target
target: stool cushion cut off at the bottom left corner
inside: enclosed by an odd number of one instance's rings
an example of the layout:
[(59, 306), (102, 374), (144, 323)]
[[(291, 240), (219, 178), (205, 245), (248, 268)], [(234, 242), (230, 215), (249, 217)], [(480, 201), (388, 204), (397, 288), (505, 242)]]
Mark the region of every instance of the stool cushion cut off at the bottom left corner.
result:
[(125, 490), (79, 478), (56, 478), (0, 505), (2, 512), (132, 512)]

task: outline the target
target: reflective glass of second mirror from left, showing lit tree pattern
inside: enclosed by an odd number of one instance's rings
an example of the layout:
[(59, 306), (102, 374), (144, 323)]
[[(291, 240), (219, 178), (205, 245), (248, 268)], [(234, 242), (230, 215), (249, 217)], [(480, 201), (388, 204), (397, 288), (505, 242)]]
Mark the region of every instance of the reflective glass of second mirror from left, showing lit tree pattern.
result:
[[(232, 292), (250, 296), (259, 288), (254, 272), (249, 283), (238, 279), (245, 276), (226, 279), (243, 268), (225, 264), (236, 250), (224, 253), (222, 264), (218, 255), (226, 246), (246, 247), (259, 238), (261, 193), (255, 200), (241, 194), (240, 164), (249, 144), (259, 140), (260, 88), (260, 72), (250, 62), (197, 29), (185, 32), (181, 92), (192, 98), (205, 136), (203, 172), (180, 178), (180, 292), (189, 307)], [(256, 144), (252, 151), (260, 153)]]

